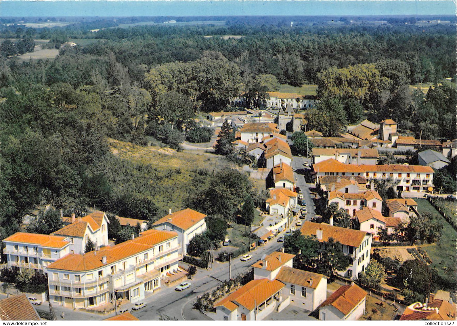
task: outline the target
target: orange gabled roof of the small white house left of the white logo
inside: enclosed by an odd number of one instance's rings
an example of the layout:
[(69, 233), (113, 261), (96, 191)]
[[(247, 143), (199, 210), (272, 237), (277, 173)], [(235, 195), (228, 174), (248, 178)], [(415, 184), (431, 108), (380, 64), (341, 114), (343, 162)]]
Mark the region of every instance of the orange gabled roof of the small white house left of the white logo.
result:
[(366, 291), (356, 284), (344, 285), (330, 295), (319, 307), (325, 307), (331, 304), (346, 316), (357, 304), (365, 299), (367, 294)]

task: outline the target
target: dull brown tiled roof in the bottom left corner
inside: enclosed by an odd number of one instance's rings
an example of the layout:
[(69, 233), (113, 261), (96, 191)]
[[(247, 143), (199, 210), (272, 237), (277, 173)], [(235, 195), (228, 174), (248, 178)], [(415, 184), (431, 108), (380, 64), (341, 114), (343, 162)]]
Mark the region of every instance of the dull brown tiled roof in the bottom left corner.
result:
[(41, 321), (40, 316), (25, 294), (0, 300), (0, 320)]

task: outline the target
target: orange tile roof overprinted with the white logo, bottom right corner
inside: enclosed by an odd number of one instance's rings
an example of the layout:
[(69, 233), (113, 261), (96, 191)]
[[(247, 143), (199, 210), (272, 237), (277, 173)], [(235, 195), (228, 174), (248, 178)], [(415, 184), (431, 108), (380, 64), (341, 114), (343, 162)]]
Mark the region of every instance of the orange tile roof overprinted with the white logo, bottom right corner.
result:
[(404, 310), (400, 321), (455, 321), (457, 316), (456, 304), (450, 304), (446, 300), (435, 299), (431, 301), (427, 308), (425, 304), (410, 304)]

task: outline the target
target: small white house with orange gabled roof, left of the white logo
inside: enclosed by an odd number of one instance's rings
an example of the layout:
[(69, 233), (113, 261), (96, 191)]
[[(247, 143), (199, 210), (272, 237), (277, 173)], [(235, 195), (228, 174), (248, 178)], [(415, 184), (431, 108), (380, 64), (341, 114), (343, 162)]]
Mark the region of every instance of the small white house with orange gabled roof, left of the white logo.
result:
[(345, 285), (319, 307), (321, 321), (358, 321), (365, 314), (367, 292), (356, 284)]

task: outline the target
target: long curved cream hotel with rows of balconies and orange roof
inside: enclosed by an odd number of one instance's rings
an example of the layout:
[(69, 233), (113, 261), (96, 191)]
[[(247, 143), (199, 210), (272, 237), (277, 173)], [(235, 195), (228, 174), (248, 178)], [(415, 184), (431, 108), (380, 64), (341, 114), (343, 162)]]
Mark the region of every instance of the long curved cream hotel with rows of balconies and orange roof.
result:
[(112, 301), (114, 292), (116, 298), (138, 302), (177, 269), (179, 250), (175, 232), (148, 230), (119, 245), (66, 255), (48, 266), (49, 300), (93, 308)]

